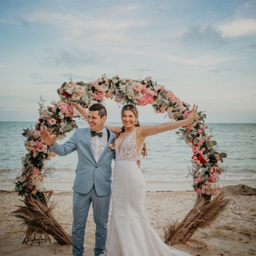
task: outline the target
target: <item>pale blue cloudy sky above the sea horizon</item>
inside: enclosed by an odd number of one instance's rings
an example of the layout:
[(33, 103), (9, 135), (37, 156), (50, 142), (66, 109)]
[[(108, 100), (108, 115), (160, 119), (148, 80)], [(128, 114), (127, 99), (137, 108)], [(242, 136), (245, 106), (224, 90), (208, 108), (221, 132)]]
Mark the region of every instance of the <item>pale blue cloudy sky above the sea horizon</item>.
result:
[[(152, 76), (207, 123), (256, 123), (255, 0), (1, 0), (0, 35), (0, 121), (36, 122), (40, 95), (57, 100), (70, 76), (119, 74)], [(140, 122), (168, 122), (138, 109)]]

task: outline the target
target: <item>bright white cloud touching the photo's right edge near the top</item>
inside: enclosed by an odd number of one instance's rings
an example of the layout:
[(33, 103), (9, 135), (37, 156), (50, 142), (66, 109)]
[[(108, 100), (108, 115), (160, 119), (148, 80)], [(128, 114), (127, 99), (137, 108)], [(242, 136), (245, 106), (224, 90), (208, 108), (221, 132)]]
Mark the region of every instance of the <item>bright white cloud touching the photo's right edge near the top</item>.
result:
[(224, 36), (228, 37), (242, 37), (246, 35), (256, 34), (256, 19), (239, 19), (231, 23), (218, 25)]

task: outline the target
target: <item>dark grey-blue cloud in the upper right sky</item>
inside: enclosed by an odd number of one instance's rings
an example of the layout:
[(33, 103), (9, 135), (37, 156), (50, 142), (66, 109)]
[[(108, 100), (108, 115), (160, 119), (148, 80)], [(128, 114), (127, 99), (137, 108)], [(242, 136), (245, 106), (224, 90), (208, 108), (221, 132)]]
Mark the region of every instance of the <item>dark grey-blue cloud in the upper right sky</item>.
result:
[(222, 31), (211, 25), (205, 28), (199, 25), (191, 25), (183, 33), (181, 41), (188, 45), (211, 46), (214, 48), (228, 44), (228, 40), (223, 37)]

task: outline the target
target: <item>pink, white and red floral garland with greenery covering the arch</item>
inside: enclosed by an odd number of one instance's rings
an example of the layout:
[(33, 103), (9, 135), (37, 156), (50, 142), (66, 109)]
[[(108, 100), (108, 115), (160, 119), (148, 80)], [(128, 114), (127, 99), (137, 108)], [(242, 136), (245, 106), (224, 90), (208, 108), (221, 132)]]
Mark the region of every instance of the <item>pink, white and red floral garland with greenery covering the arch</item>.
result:
[[(55, 153), (47, 150), (47, 146), (40, 139), (40, 129), (45, 127), (49, 133), (56, 134), (57, 140), (61, 140), (74, 128), (77, 128), (72, 118), (72, 103), (80, 103), (84, 108), (89, 105), (102, 102), (105, 98), (114, 98), (120, 104), (133, 103), (140, 106), (151, 104), (156, 113), (165, 113), (170, 119), (186, 119), (190, 113), (189, 104), (182, 102), (172, 91), (165, 86), (158, 85), (148, 76), (142, 81), (123, 79), (119, 75), (112, 78), (103, 75), (94, 82), (63, 83), (57, 90), (60, 96), (58, 102), (52, 101), (53, 106), (48, 106), (40, 112), (40, 118), (35, 129), (27, 128), (23, 136), (26, 137), (25, 146), (28, 154), (22, 157), (22, 175), (17, 177), (15, 189), (19, 195), (30, 194), (43, 196), (44, 175), (47, 174), (47, 160), (55, 156)], [(204, 125), (206, 115), (198, 112), (200, 120), (194, 120), (180, 128), (177, 134), (193, 151), (191, 159), (193, 176), (193, 188), (198, 194), (215, 195), (219, 190), (219, 175), (224, 169), (219, 165), (223, 162), (226, 153), (218, 153), (209, 132), (205, 132), (209, 126)], [(51, 169), (51, 168), (50, 168)], [(44, 174), (44, 175), (43, 175)]]

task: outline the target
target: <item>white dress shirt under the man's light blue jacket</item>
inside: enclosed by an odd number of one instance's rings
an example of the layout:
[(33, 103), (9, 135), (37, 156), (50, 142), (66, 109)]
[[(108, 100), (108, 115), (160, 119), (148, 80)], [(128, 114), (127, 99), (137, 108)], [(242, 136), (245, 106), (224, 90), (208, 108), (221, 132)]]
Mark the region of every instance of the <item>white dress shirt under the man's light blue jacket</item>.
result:
[(108, 132), (106, 128), (104, 127), (101, 131), (98, 132), (103, 133), (101, 138), (98, 135), (91, 137), (91, 147), (93, 148), (96, 162), (98, 162), (104, 148), (106, 147), (106, 144), (108, 143)]

